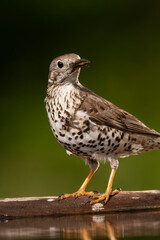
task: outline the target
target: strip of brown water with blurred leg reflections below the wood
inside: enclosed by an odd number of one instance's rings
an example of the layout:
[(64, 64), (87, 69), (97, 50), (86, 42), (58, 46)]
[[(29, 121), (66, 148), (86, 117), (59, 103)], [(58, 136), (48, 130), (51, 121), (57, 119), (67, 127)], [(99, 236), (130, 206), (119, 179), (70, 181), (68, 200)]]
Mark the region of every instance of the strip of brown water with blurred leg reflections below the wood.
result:
[(82, 239), (160, 236), (160, 212), (1, 219), (2, 239)]

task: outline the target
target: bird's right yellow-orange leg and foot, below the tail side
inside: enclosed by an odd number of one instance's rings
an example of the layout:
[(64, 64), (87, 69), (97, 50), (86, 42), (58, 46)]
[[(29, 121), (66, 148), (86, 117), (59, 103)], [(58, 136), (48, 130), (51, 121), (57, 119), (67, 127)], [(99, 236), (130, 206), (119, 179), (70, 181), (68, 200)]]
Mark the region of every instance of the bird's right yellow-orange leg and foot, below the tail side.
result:
[(107, 186), (107, 189), (106, 189), (105, 193), (101, 194), (99, 196), (94, 196), (93, 199), (96, 199), (96, 200), (91, 201), (90, 204), (98, 203), (98, 202), (101, 202), (103, 200), (105, 201), (105, 203), (107, 203), (107, 201), (109, 200), (109, 197), (111, 195), (113, 196), (113, 195), (119, 193), (119, 191), (120, 191), (119, 189), (116, 189), (113, 192), (111, 192), (115, 173), (116, 173), (116, 168), (112, 168), (111, 169), (111, 174), (110, 174), (110, 177), (109, 177), (109, 181), (108, 181), (108, 186)]

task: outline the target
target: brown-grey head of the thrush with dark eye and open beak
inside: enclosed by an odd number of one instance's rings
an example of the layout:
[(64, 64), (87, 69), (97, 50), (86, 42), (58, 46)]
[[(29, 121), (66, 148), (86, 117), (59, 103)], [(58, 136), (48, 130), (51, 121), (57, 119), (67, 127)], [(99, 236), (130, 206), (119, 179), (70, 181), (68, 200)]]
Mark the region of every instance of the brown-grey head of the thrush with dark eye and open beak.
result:
[(74, 53), (65, 54), (53, 59), (49, 68), (48, 85), (74, 83), (78, 80), (80, 68), (89, 63)]

